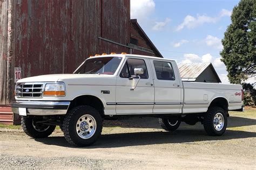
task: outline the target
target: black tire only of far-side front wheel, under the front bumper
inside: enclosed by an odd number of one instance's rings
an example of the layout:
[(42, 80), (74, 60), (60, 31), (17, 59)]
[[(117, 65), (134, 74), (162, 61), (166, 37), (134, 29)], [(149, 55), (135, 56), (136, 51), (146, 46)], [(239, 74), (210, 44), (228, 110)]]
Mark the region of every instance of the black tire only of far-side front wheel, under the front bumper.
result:
[(43, 132), (37, 131), (32, 124), (33, 118), (22, 116), (21, 125), (23, 131), (32, 138), (46, 138), (55, 130), (56, 126), (49, 125), (49, 128)]

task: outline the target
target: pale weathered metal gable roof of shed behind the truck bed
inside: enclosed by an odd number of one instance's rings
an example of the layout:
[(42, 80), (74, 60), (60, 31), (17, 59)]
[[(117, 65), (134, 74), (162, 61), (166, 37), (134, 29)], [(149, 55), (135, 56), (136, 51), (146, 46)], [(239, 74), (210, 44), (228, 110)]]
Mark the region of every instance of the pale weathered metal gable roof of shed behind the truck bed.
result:
[(197, 77), (210, 67), (215, 77), (221, 82), (211, 62), (180, 63), (178, 65), (181, 79), (184, 81), (196, 81)]

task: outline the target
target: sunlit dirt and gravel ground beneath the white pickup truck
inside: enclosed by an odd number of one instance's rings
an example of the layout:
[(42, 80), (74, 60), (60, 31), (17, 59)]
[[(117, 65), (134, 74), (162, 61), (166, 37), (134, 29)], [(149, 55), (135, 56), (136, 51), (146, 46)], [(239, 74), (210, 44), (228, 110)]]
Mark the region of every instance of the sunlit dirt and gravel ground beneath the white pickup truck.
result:
[(256, 169), (256, 110), (230, 115), (221, 137), (207, 136), (200, 123), (166, 132), (156, 118), (105, 121), (90, 147), (71, 147), (60, 130), (32, 139), (0, 128), (0, 168)]

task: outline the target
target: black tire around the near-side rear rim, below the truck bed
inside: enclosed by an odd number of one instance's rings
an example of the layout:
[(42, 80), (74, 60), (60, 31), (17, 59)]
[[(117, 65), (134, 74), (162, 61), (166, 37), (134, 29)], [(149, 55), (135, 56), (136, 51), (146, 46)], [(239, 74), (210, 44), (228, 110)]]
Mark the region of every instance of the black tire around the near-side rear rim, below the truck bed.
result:
[[(214, 128), (214, 123), (213, 123), (214, 116), (217, 115), (218, 113), (223, 115), (223, 118), (224, 118), (224, 126), (219, 131)], [(220, 107), (211, 107), (208, 109), (208, 111), (204, 116), (203, 124), (204, 124), (204, 129), (208, 135), (221, 136), (227, 128), (227, 112)]]

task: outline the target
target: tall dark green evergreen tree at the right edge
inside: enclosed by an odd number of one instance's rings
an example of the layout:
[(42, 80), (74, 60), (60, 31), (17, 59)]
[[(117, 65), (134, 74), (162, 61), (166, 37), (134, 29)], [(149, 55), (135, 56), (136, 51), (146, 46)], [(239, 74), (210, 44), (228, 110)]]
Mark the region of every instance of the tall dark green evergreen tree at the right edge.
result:
[(256, 75), (256, 0), (241, 0), (234, 7), (220, 52), (231, 83)]

